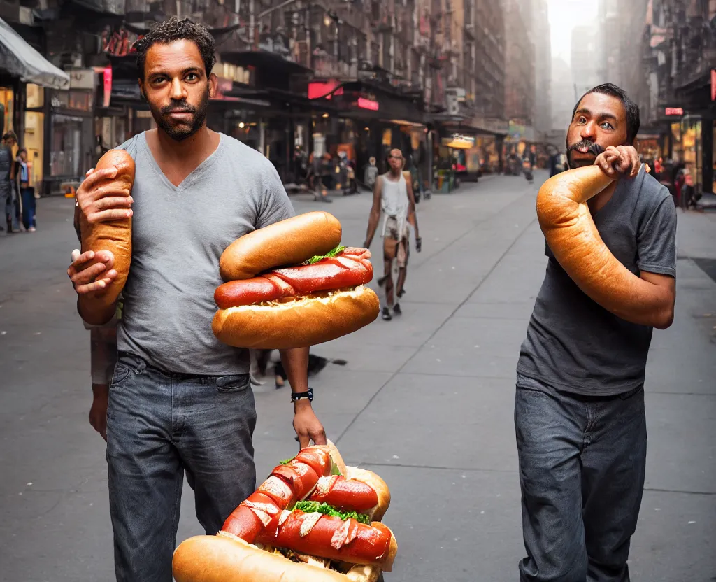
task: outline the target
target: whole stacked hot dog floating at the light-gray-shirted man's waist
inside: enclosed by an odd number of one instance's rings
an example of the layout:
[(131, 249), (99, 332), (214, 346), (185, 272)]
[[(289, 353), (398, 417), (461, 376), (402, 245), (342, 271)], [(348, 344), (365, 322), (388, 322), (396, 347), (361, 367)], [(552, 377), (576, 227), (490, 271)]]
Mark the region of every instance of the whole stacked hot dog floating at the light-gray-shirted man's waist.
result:
[(341, 233), (331, 214), (309, 212), (233, 242), (214, 293), (216, 338), (236, 348), (305, 348), (372, 323), (370, 251), (339, 246)]

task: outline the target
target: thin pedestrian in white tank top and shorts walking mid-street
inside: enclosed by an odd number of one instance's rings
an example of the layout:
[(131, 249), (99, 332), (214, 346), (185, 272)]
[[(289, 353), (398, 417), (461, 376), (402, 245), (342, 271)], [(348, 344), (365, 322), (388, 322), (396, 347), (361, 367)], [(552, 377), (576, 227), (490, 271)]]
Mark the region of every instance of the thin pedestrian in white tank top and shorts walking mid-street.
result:
[[(412, 193), (410, 174), (405, 176), (402, 171), (405, 159), (402, 151), (393, 149), (388, 154), (387, 173), (378, 176), (373, 190), (373, 206), (370, 209), (368, 219), (368, 232), (365, 237), (364, 247), (369, 249), (375, 231), (378, 228), (381, 211), (384, 214), (382, 237), (383, 237), (383, 277), (378, 284), (384, 288), (385, 304), (382, 308), (382, 318), (390, 321), (392, 315), (402, 313), (400, 304), (395, 297), (400, 299), (405, 293), (405, 277), (407, 277), (407, 262), (410, 256), (410, 230), (408, 224), (415, 229), (415, 249), (420, 252), (422, 240), (418, 234), (417, 217), (415, 216), (415, 196)], [(393, 296), (393, 262), (397, 262), (398, 274)], [(395, 302), (394, 302), (395, 300)], [(392, 314), (390, 313), (392, 310)]]

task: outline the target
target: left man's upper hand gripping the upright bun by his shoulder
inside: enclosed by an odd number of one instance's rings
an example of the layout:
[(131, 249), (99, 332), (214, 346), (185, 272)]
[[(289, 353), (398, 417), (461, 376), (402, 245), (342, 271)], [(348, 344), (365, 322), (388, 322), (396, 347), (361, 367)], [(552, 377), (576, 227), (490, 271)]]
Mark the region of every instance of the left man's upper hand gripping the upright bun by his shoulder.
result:
[(117, 168), (95, 170), (85, 174), (75, 194), (77, 206), (89, 224), (126, 219), (132, 216), (132, 196), (115, 182), (102, 184), (117, 176)]

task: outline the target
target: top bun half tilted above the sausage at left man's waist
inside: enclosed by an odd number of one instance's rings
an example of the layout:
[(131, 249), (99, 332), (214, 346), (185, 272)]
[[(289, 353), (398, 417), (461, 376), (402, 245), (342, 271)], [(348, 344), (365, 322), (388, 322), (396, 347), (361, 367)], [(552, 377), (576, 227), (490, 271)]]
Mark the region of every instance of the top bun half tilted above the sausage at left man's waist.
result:
[(327, 212), (308, 212), (264, 226), (232, 242), (221, 254), (224, 281), (251, 279), (258, 273), (326, 254), (341, 242), (341, 223)]

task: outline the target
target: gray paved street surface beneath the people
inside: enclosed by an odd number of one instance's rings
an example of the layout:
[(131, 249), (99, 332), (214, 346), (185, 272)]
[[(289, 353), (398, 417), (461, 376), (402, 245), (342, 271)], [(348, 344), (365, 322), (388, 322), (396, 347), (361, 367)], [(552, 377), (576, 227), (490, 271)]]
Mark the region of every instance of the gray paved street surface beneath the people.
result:
[[(344, 358), (312, 382), (347, 462), (392, 492), (399, 581), (516, 581), (523, 556), (513, 395), (546, 258), (530, 185), (495, 177), (418, 205), (404, 315), (314, 348)], [(369, 194), (325, 209), (363, 242)], [(87, 421), (89, 333), (67, 281), (69, 199), (42, 199), (38, 232), (0, 237), (0, 579), (110, 581), (105, 443)], [(380, 239), (374, 242), (377, 254)], [(647, 367), (649, 459), (632, 579), (715, 580), (716, 214), (679, 211), (676, 320)], [(379, 257), (379, 254), (377, 254)], [(380, 260), (374, 261), (377, 272)], [(703, 263), (703, 262), (702, 262)], [(374, 285), (374, 284), (373, 284)], [(209, 290), (208, 292), (211, 292)], [(288, 389), (256, 389), (258, 475), (296, 451)], [(185, 486), (179, 540), (200, 533)]]

